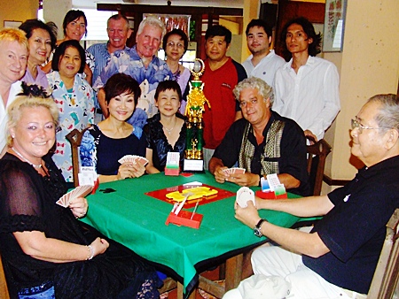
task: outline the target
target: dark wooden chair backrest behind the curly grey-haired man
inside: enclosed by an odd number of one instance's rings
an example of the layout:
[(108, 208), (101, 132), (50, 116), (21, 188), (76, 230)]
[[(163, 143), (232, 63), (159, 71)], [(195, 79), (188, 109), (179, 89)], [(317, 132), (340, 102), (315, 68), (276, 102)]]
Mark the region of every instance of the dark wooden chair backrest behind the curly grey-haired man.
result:
[(323, 184), (323, 175), (325, 174), (325, 158), (331, 152), (331, 146), (320, 139), (312, 145), (306, 146), (308, 152), (308, 173), (309, 184), (313, 191), (313, 196), (319, 196)]

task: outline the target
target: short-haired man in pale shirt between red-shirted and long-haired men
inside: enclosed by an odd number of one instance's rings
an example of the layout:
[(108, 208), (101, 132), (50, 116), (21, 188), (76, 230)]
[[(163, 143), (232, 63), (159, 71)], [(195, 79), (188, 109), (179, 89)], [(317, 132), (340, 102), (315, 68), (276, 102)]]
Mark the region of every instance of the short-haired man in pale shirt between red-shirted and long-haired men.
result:
[(270, 49), (271, 36), (271, 28), (265, 21), (251, 20), (246, 26), (246, 44), (252, 55), (242, 65), (249, 77), (260, 78), (273, 87), (276, 71), (286, 63), (286, 60)]

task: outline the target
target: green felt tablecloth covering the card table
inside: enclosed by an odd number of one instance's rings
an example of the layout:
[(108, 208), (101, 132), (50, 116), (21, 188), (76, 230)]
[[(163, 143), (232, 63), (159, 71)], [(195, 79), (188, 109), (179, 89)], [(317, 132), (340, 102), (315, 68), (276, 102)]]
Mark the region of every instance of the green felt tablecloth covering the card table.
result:
[[(183, 278), (187, 294), (187, 286), (197, 277), (197, 263), (264, 241), (264, 238), (254, 236), (251, 228), (234, 218), (235, 196), (200, 205), (196, 211), (203, 215), (200, 229), (173, 224), (166, 226), (172, 204), (146, 196), (145, 193), (192, 181), (231, 192), (239, 189), (238, 185), (230, 182), (217, 183), (210, 173), (197, 173), (190, 177), (157, 173), (103, 183), (95, 195), (87, 197), (89, 211), (82, 221), (139, 256), (173, 269)], [(100, 191), (105, 188), (116, 191)], [(279, 211), (260, 211), (260, 214), (278, 226), (293, 226), (298, 220), (293, 215)]]

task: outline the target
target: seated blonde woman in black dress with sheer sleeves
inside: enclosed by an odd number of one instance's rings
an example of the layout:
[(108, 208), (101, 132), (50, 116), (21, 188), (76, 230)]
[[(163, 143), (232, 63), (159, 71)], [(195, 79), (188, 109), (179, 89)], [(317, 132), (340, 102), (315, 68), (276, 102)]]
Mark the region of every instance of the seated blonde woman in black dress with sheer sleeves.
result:
[(10, 149), (0, 160), (0, 253), (12, 298), (118, 298), (121, 292), (158, 298), (160, 281), (152, 267), (94, 229), (96, 236), (83, 234), (75, 218), (85, 216), (85, 198), (67, 208), (56, 204), (66, 194), (48, 155), (59, 117), (56, 103), (20, 96), (8, 113)]

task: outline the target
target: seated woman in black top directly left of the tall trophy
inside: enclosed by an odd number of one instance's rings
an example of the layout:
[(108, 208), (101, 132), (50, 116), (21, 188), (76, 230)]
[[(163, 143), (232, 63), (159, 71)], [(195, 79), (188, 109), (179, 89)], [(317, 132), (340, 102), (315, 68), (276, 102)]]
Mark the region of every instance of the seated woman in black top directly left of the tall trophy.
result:
[(154, 97), (159, 113), (148, 119), (144, 127), (147, 173), (163, 172), (169, 151), (180, 153), (180, 165), (184, 160), (186, 126), (184, 116), (178, 112), (182, 102), (180, 86), (175, 80), (162, 81)]

